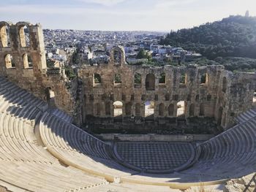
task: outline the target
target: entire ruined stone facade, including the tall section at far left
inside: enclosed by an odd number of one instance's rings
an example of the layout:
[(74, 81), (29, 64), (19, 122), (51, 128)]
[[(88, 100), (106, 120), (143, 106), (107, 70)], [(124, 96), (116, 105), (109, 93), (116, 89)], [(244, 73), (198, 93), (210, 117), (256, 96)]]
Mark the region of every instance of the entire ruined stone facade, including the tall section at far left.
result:
[[(124, 49), (114, 47), (109, 64), (82, 66), (78, 79), (69, 81), (61, 67), (46, 66), (42, 26), (0, 22), (0, 35), (0, 75), (45, 100), (53, 91), (56, 106), (75, 114), (78, 124), (178, 126), (197, 117), (230, 128), (236, 115), (252, 107), (255, 74), (233, 74), (223, 66), (129, 66)], [(115, 101), (122, 104), (116, 117)], [(148, 116), (146, 103), (154, 103)]]

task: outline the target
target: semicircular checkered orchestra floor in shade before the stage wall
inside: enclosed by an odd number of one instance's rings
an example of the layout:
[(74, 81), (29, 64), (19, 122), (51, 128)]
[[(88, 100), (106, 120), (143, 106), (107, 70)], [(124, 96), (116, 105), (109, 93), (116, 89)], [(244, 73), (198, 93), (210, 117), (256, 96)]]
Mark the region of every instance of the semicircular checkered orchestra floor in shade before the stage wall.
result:
[(187, 142), (116, 142), (114, 153), (123, 166), (151, 173), (178, 171), (195, 158)]

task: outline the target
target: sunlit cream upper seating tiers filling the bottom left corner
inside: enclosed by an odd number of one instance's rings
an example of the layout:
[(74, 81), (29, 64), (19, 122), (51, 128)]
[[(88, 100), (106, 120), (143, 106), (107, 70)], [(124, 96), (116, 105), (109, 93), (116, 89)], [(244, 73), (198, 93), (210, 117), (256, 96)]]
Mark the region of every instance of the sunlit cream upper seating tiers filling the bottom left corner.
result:
[(31, 191), (70, 191), (108, 184), (103, 178), (59, 164), (34, 144), (33, 129), (29, 120), (0, 114), (1, 180)]

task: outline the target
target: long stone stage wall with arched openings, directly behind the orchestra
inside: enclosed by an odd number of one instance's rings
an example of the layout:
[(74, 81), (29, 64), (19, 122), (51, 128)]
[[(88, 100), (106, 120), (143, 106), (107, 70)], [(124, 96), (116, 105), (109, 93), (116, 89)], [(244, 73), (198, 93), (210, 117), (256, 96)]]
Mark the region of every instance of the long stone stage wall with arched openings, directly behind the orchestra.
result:
[[(114, 61), (116, 51), (121, 53), (119, 62)], [(95, 74), (100, 75), (101, 83), (95, 82)], [(114, 82), (115, 74), (121, 77), (121, 83)], [(135, 74), (141, 75), (140, 84), (135, 83)], [(165, 74), (164, 83), (159, 82), (162, 74)], [(186, 76), (184, 82), (180, 81), (182, 74)], [(149, 76), (154, 80), (147, 80)], [(114, 101), (123, 103), (123, 122), (144, 118), (145, 101), (154, 101), (154, 120), (165, 123), (177, 117), (177, 103), (184, 101), (184, 118), (214, 118), (219, 126), (229, 128), (235, 123), (236, 115), (252, 106), (255, 74), (233, 74), (224, 66), (129, 66), (123, 48), (114, 47), (109, 64), (83, 66), (78, 77), (83, 82), (83, 122), (97, 117), (108, 118), (107, 123), (113, 123)], [(151, 87), (147, 88), (147, 83)], [(110, 107), (110, 113), (106, 107)]]

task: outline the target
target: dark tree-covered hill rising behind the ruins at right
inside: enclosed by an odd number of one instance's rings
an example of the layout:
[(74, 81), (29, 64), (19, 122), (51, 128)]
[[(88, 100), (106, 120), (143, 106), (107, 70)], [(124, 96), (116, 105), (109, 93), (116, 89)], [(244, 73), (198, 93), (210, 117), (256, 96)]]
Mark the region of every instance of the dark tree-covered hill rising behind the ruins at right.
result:
[(194, 28), (170, 31), (159, 43), (195, 50), (208, 59), (256, 58), (256, 17), (236, 15)]

